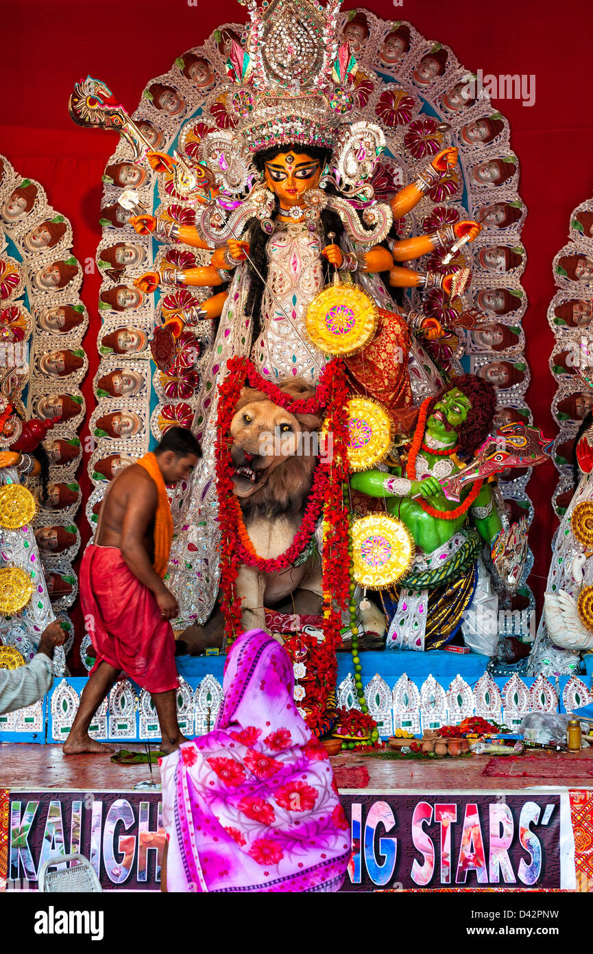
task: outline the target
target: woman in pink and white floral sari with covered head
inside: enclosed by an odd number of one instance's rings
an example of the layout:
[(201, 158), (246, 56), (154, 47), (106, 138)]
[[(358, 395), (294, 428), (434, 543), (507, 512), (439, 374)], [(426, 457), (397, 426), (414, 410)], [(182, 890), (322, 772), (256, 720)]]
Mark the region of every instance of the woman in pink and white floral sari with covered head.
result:
[(161, 759), (168, 891), (339, 891), (349, 826), (293, 691), (276, 639), (235, 641), (214, 732)]

